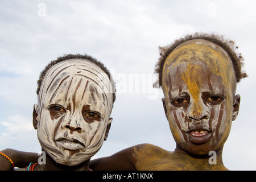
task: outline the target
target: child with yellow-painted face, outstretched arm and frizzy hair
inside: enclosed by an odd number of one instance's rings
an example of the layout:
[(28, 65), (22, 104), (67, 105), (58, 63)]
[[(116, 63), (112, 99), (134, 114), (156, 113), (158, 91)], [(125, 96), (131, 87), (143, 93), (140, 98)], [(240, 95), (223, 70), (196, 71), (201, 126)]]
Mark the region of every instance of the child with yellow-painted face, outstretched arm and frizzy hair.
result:
[[(226, 170), (222, 150), (240, 95), (236, 85), (246, 73), (234, 42), (222, 36), (194, 34), (160, 48), (155, 72), (163, 89), (164, 111), (175, 151), (139, 144), (93, 160), (93, 170)], [(209, 154), (215, 153), (214, 164)]]

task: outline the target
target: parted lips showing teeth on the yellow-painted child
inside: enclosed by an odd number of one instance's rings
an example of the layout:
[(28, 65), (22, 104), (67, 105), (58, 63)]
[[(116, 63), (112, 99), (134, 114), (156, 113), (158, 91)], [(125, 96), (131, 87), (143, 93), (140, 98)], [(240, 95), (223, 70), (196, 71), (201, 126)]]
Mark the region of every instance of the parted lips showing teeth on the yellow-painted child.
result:
[(193, 143), (193, 144), (204, 144), (207, 142), (210, 138), (210, 134), (212, 132), (204, 129), (200, 130), (190, 130), (187, 132), (188, 134), (188, 139)]

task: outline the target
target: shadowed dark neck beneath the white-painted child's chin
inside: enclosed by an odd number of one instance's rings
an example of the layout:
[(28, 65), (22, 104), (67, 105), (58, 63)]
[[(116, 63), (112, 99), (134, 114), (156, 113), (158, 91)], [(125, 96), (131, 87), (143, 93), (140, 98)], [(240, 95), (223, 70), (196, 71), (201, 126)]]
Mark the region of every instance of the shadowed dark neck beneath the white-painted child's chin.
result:
[(37, 164), (35, 171), (88, 171), (90, 159), (77, 166), (65, 166), (56, 163), (48, 154), (46, 154), (46, 164)]

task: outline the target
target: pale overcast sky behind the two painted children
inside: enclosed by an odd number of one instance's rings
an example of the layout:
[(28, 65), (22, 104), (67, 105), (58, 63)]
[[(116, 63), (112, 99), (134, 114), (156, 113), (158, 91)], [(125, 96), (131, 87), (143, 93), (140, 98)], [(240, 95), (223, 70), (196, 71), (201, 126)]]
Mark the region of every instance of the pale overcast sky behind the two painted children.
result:
[(67, 53), (102, 61), (117, 84), (109, 138), (94, 158), (140, 143), (173, 151), (162, 90), (152, 89), (158, 46), (194, 32), (235, 40), (249, 75), (237, 85), (240, 113), (224, 146), (230, 170), (256, 170), (256, 1), (1, 1), (0, 150), (39, 152), (32, 109), (36, 81)]

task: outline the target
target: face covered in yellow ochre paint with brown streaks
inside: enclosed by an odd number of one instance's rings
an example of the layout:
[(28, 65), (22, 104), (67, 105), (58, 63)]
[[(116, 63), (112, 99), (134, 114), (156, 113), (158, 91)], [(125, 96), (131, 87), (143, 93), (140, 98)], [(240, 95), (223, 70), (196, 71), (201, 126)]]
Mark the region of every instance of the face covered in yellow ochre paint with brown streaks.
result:
[(176, 143), (192, 154), (217, 150), (228, 138), (236, 76), (228, 54), (208, 40), (174, 49), (163, 67), (167, 118)]

